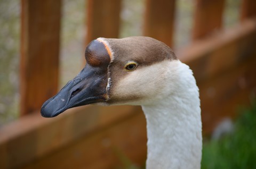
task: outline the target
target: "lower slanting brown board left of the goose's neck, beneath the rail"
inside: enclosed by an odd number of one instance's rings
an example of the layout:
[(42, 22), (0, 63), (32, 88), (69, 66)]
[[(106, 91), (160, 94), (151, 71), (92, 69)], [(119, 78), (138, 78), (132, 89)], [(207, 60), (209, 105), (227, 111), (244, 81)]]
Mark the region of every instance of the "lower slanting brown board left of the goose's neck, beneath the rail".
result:
[(146, 160), (146, 121), (142, 112), (86, 134), (24, 168), (117, 168), (126, 156), (136, 164)]

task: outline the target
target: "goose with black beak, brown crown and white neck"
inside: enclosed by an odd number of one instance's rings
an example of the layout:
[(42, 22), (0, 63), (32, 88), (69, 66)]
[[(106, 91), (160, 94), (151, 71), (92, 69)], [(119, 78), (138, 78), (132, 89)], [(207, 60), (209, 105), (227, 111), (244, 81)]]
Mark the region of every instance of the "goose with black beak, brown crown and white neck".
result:
[(43, 117), (87, 104), (141, 105), (147, 122), (147, 168), (200, 168), (199, 91), (189, 66), (154, 38), (98, 38), (85, 49), (86, 64)]

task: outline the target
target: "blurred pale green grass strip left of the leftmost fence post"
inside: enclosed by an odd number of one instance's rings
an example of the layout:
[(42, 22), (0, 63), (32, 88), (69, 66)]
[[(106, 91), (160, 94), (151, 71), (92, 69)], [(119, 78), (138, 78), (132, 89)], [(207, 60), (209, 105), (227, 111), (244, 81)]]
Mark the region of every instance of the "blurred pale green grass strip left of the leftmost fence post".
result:
[(19, 0), (0, 0), (0, 126), (18, 116), (19, 9)]

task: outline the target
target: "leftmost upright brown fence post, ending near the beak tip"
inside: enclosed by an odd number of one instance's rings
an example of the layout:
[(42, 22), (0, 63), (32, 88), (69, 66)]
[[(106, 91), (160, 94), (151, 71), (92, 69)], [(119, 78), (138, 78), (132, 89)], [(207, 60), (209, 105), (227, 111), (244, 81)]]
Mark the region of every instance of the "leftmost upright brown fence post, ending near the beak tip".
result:
[(58, 89), (61, 0), (21, 1), (20, 113), (41, 108)]

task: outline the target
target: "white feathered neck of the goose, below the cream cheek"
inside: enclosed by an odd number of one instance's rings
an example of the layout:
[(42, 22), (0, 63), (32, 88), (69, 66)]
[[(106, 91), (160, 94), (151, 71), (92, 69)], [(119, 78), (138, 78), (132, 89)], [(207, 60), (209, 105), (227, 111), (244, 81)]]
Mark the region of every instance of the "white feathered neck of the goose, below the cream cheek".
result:
[(188, 66), (181, 63), (177, 70), (181, 78), (175, 79), (178, 85), (175, 91), (159, 102), (142, 105), (147, 120), (148, 169), (201, 167), (202, 122), (198, 88)]

